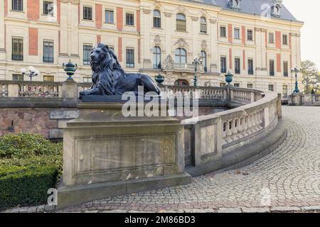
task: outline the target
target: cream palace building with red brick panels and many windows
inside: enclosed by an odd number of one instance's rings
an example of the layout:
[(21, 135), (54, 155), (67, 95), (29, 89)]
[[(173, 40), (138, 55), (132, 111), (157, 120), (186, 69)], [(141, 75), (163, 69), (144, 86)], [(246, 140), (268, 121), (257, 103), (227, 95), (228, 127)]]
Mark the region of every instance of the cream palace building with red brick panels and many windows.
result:
[[(90, 51), (105, 43), (127, 72), (162, 74), (164, 84), (233, 85), (287, 96), (301, 62), (300, 29), (280, 0), (1, 0), (0, 81), (62, 82), (62, 64), (78, 64), (90, 82)], [(299, 76), (299, 85), (302, 77)]]

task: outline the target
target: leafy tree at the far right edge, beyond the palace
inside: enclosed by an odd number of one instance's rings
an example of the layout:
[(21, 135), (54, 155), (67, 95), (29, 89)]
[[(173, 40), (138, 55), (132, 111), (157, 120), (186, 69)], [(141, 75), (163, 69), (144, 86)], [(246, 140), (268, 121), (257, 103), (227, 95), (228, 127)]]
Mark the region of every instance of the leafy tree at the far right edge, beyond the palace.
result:
[(309, 94), (312, 89), (317, 91), (319, 87), (319, 71), (314, 62), (306, 60), (301, 62), (302, 67), (302, 86), (305, 94)]

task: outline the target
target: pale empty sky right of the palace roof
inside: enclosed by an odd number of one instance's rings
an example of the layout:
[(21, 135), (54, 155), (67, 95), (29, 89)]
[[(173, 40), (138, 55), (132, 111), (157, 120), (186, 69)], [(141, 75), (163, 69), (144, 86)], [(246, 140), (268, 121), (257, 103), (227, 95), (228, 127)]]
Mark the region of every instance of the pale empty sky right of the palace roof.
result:
[(320, 1), (284, 0), (283, 4), (298, 21), (304, 21), (301, 30), (302, 61), (311, 60), (320, 70)]

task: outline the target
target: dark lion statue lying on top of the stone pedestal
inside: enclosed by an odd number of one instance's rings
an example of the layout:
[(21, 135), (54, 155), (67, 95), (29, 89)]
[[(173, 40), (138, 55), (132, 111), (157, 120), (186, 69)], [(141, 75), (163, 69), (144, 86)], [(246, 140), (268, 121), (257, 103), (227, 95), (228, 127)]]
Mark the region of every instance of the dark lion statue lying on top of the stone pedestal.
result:
[(148, 75), (124, 72), (117, 56), (103, 43), (92, 49), (90, 66), (92, 87), (80, 92), (80, 99), (89, 95), (122, 95), (124, 92), (138, 94), (139, 86), (144, 87), (144, 94), (146, 92), (161, 94), (159, 87)]

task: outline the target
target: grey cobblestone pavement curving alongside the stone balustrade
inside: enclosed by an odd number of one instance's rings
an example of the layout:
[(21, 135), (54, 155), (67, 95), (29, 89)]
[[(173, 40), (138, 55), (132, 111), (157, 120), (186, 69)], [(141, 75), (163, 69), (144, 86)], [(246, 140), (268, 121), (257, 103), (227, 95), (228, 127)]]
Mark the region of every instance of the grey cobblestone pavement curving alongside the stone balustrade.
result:
[(63, 212), (320, 211), (320, 107), (284, 106), (283, 116), (284, 143), (252, 165), (194, 177), (186, 186), (92, 201)]

